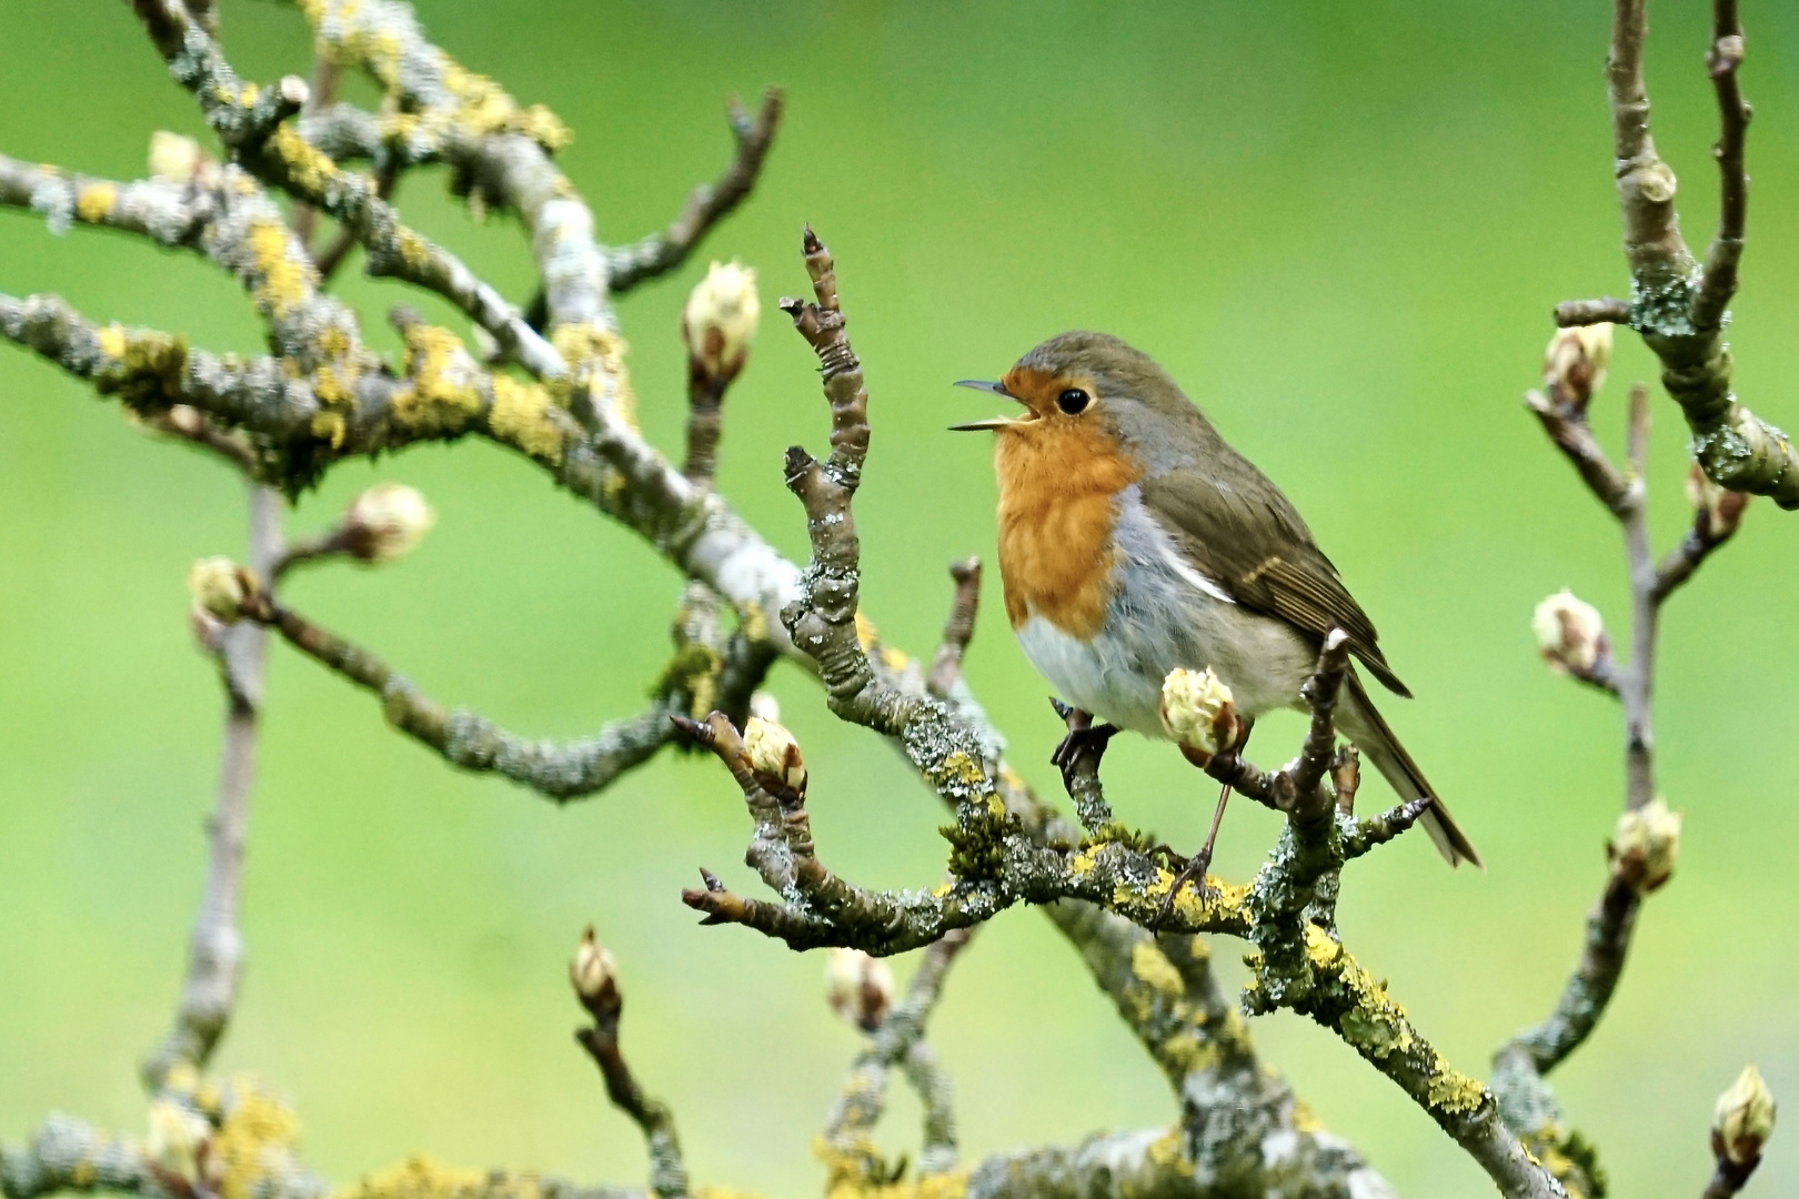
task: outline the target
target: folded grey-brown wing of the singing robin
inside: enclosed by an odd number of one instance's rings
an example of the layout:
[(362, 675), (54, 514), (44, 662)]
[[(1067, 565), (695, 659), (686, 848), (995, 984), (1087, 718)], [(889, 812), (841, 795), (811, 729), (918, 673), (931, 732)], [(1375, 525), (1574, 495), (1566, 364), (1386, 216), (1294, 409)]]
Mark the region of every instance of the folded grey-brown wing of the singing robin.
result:
[(1207, 458), (1204, 471), (1177, 467), (1144, 480), (1142, 500), (1193, 568), (1236, 602), (1281, 617), (1311, 638), (1342, 629), (1369, 674), (1410, 696), (1387, 667), (1374, 624), (1331, 559), (1311, 541), (1293, 505), (1249, 460), (1225, 448)]

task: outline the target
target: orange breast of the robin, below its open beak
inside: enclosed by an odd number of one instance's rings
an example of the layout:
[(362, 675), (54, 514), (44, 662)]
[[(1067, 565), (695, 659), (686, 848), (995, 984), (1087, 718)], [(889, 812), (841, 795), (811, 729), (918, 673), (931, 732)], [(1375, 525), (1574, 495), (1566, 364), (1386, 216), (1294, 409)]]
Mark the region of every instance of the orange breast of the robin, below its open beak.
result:
[(1112, 600), (1114, 496), (1141, 471), (1090, 421), (1027, 421), (1000, 430), (1000, 581), (1018, 629), (1036, 611), (1092, 636)]

